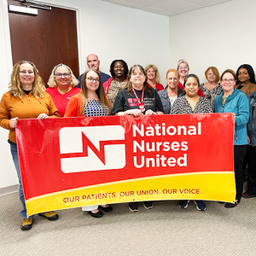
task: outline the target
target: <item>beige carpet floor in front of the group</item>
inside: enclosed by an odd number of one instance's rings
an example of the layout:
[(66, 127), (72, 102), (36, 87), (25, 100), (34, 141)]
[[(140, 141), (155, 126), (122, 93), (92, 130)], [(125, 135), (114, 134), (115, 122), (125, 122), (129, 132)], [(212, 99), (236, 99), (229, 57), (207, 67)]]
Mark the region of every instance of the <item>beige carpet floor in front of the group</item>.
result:
[(0, 255), (256, 255), (256, 198), (232, 209), (207, 201), (200, 212), (193, 201), (155, 201), (146, 210), (113, 205), (113, 212), (92, 218), (81, 208), (58, 211), (57, 221), (34, 218), (21, 231), (17, 192), (0, 196)]

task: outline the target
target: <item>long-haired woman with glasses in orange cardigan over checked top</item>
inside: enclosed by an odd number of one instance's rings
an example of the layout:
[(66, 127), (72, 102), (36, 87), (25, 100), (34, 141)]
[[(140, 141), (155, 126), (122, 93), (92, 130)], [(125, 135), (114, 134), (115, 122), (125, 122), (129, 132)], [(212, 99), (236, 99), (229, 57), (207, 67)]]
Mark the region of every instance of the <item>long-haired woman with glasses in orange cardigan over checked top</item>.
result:
[[(91, 117), (106, 116), (111, 113), (111, 106), (103, 89), (102, 78), (96, 69), (84, 72), (81, 79), (81, 91), (72, 96), (67, 103), (64, 117)], [(108, 205), (82, 207), (93, 218), (101, 218), (104, 212), (112, 212), (113, 208)]]

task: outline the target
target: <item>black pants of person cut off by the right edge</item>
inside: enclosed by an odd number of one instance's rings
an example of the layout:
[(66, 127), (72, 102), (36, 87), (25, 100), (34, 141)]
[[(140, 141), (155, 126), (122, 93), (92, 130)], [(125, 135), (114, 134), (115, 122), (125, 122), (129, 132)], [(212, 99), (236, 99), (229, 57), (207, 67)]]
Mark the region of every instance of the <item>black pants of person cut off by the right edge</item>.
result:
[(256, 147), (247, 147), (248, 187), (247, 191), (256, 195)]

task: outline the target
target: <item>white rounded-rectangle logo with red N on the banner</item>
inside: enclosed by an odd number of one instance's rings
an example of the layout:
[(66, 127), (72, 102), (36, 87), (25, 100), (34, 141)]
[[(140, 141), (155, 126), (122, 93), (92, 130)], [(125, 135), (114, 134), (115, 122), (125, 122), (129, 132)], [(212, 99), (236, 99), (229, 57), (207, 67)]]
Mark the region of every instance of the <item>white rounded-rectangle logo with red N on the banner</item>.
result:
[(62, 172), (125, 167), (125, 130), (121, 125), (65, 127), (59, 135)]

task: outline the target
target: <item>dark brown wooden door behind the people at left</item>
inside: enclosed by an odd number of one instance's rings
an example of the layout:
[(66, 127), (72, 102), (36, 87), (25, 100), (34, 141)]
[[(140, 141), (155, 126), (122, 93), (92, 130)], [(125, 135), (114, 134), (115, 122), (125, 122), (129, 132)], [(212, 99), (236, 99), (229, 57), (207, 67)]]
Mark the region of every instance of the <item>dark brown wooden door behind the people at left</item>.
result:
[[(27, 3), (8, 0), (9, 4), (26, 7)], [(38, 15), (9, 13), (13, 63), (32, 61), (46, 84), (55, 65), (71, 67), (79, 77), (79, 52), (76, 12), (52, 7), (38, 9)]]

